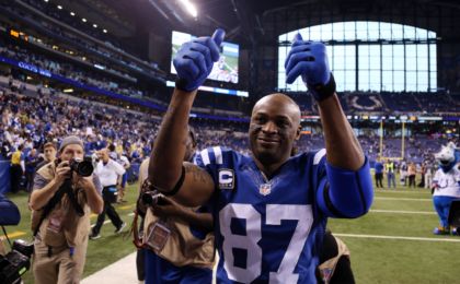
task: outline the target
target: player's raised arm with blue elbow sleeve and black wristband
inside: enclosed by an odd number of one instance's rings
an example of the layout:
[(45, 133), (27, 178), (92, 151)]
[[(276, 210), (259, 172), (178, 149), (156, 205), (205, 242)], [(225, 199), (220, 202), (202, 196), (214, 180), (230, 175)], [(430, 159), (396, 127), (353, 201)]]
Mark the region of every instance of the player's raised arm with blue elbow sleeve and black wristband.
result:
[(317, 193), (320, 208), (329, 216), (365, 214), (373, 199), (369, 163), (335, 93), (325, 46), (297, 34), (285, 67), (287, 83), (301, 75), (320, 109), (327, 153), (327, 180), (319, 182)]

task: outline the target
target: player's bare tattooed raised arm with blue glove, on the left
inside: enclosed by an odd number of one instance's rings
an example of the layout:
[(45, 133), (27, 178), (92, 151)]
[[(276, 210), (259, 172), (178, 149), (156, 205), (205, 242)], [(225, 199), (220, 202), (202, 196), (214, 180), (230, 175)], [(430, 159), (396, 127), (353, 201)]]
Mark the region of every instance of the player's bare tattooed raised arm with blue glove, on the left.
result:
[(217, 29), (212, 37), (200, 37), (184, 44), (174, 58), (179, 80), (163, 118), (150, 157), (149, 179), (164, 194), (184, 205), (195, 206), (209, 199), (214, 181), (204, 169), (184, 164), (187, 142), (188, 116), (197, 88), (219, 59), (223, 31)]

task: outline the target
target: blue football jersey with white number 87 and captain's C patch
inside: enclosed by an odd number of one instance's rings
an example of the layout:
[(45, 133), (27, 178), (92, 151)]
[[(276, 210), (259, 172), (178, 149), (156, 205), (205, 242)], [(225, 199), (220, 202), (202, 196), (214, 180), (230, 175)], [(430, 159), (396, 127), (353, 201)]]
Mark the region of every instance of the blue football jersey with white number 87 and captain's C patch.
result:
[(195, 163), (216, 185), (209, 206), (217, 283), (317, 283), (326, 217), (315, 192), (325, 150), (289, 158), (269, 180), (252, 157), (232, 150), (206, 149)]

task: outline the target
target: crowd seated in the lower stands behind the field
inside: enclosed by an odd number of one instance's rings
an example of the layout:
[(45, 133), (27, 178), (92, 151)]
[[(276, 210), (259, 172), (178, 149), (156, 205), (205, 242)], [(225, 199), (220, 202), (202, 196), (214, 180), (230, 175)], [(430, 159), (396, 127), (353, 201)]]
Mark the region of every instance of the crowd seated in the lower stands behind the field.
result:
[[(114, 144), (116, 151), (127, 156), (131, 164), (139, 164), (150, 154), (150, 145), (160, 123), (160, 117), (150, 114), (107, 107), (64, 94), (22, 95), (8, 87), (0, 87), (0, 109), (3, 158), (11, 157), (20, 147), (26, 158), (34, 149), (39, 153), (46, 142), (59, 144), (64, 137), (74, 134), (85, 141), (87, 154)], [(197, 132), (198, 149), (222, 145), (250, 153), (248, 122), (193, 119), (192, 126)], [(361, 135), (358, 139), (369, 159), (376, 161), (379, 156), (379, 138)], [(407, 163), (433, 164), (433, 153), (445, 143), (446, 140), (424, 135), (410, 138), (405, 145), (405, 158)], [(383, 156), (401, 156), (400, 139), (386, 139), (383, 145)], [(318, 133), (302, 135), (297, 143), (299, 152), (323, 146), (323, 137)]]

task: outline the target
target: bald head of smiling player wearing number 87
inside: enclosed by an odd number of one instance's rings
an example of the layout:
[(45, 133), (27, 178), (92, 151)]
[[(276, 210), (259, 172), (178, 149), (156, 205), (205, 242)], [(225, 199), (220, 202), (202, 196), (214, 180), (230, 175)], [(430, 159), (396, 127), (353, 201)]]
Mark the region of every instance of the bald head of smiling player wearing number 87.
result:
[(283, 95), (262, 98), (254, 106), (250, 143), (254, 157), (263, 165), (284, 163), (299, 138), (299, 108)]

